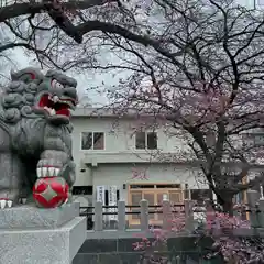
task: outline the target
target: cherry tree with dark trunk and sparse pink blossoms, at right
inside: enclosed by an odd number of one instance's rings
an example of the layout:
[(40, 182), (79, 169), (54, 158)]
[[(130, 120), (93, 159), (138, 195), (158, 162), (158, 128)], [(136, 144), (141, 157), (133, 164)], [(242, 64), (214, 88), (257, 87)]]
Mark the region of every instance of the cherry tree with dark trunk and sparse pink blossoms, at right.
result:
[(145, 46), (105, 32), (100, 48), (116, 54), (117, 63), (75, 64), (130, 70), (114, 87), (102, 84), (116, 110), (151, 113), (183, 136), (188, 151), (174, 158), (188, 153), (198, 162), (218, 202), (232, 211), (234, 195), (263, 182), (263, 142), (249, 139), (263, 132), (262, 14), (227, 0), (153, 0), (136, 18), (132, 30), (141, 31)]

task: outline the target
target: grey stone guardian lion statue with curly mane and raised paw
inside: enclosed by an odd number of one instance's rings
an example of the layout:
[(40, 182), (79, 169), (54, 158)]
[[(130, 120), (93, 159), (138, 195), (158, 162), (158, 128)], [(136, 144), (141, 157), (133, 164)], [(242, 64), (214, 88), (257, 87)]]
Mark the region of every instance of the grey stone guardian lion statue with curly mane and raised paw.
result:
[(0, 96), (1, 207), (32, 195), (37, 177), (63, 177), (69, 188), (75, 182), (69, 109), (78, 100), (77, 81), (35, 68), (11, 73), (11, 79)]

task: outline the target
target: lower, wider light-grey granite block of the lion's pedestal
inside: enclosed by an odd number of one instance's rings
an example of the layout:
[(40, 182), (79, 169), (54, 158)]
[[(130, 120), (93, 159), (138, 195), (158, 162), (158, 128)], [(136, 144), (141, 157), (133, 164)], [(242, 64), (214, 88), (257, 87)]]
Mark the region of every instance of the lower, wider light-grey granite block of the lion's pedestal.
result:
[(70, 264), (86, 237), (82, 217), (56, 229), (1, 229), (0, 264)]

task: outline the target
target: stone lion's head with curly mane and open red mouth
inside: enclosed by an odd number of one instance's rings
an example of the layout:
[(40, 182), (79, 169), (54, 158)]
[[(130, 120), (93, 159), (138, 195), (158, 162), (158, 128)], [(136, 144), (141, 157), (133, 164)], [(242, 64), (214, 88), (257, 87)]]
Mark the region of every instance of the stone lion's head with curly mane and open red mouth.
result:
[(78, 102), (74, 78), (55, 70), (43, 75), (36, 68), (25, 68), (12, 72), (11, 79), (2, 94), (7, 122), (43, 117), (53, 124), (69, 123), (70, 109)]

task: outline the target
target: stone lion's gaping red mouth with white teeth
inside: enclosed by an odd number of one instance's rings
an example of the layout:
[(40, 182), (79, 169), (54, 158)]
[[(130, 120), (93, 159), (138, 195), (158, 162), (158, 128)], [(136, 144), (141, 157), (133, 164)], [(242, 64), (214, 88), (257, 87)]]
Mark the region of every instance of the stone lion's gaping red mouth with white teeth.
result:
[(51, 116), (70, 116), (69, 109), (75, 109), (76, 101), (70, 98), (58, 98), (57, 96), (43, 95), (38, 108), (45, 109)]

